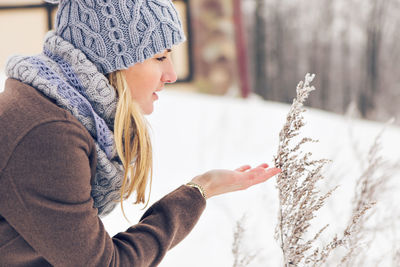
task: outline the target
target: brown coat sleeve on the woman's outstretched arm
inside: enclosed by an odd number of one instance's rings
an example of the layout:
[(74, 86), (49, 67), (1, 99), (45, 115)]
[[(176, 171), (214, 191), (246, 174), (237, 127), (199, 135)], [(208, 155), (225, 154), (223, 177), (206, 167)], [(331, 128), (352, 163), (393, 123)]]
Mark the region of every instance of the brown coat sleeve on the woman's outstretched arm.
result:
[(26, 134), (1, 173), (0, 214), (53, 266), (156, 266), (194, 227), (204, 198), (181, 186), (111, 238), (90, 196), (88, 138), (66, 121)]

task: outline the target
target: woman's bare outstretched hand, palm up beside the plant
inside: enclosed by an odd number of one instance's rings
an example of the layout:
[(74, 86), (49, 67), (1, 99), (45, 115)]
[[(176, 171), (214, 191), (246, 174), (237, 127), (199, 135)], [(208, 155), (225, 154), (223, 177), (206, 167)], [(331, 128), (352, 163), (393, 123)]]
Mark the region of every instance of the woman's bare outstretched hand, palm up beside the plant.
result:
[(234, 171), (211, 170), (194, 177), (192, 182), (201, 185), (206, 192), (207, 198), (210, 198), (228, 192), (247, 189), (250, 186), (265, 182), (281, 172), (278, 168), (267, 168), (268, 164), (263, 163), (253, 169), (250, 165), (244, 165)]

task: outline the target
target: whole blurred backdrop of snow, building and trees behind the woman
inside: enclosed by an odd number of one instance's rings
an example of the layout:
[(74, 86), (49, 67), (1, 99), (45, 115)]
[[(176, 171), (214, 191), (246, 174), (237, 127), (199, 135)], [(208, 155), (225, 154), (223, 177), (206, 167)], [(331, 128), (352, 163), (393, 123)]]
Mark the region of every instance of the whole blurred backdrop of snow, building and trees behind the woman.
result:
[[(366, 234), (371, 243), (365, 242), (358, 255), (369, 264), (353, 266), (399, 266), (400, 128), (387, 127), (382, 136), (378, 154), (391, 160), (388, 168), (368, 157), (384, 124), (350, 117), (386, 122), (400, 115), (400, 0), (174, 3), (188, 41), (172, 53), (179, 82), (160, 92), (149, 116), (155, 157), (150, 204), (209, 169), (271, 163), (287, 103), (311, 72), (317, 90), (307, 101), (313, 109), (308, 109), (304, 133), (320, 140), (311, 148), (313, 155), (333, 160), (322, 188), (341, 185), (319, 217), (332, 223), (329, 234), (339, 233), (351, 214), (354, 184), (372, 164), (378, 170), (374, 179), (385, 188), (378, 192)], [(40, 0), (0, 0), (0, 92), (7, 58), (40, 53), (55, 11), (55, 5)], [(342, 116), (350, 110), (351, 116)], [(277, 198), (272, 179), (210, 199), (198, 225), (162, 266), (185, 266), (186, 259), (193, 267), (232, 266), (233, 232), (243, 214), (248, 215), (244, 252), (258, 253), (250, 266), (280, 266), (273, 238)], [(143, 213), (130, 203), (125, 208), (132, 222)], [(121, 218), (118, 208), (105, 218), (110, 234), (129, 227)], [(206, 256), (199, 257), (199, 251)]]

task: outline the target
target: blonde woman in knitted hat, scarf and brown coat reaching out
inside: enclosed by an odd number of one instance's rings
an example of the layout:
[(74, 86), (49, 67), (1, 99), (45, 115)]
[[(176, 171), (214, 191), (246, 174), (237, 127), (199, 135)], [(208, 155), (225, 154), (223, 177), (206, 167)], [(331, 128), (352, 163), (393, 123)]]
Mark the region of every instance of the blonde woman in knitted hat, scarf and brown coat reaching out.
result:
[[(52, 1), (57, 2), (57, 1)], [(156, 266), (206, 199), (279, 172), (211, 170), (110, 237), (100, 216), (145, 202), (152, 150), (144, 115), (177, 77), (185, 40), (170, 0), (61, 0), (43, 52), (14, 56), (0, 94), (0, 266)]]

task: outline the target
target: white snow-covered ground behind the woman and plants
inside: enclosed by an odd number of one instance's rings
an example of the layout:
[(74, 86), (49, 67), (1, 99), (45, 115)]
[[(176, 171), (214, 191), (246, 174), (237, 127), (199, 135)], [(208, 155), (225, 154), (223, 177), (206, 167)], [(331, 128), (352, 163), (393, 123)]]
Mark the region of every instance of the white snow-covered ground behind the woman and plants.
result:
[[(154, 146), (150, 204), (210, 169), (272, 163), (288, 105), (257, 98), (243, 100), (172, 90), (163, 91), (159, 96), (154, 113), (148, 117)], [(366, 155), (383, 126), (319, 110), (309, 110), (305, 120), (304, 134), (320, 140), (319, 144), (310, 147), (313, 154), (333, 160), (326, 171), (329, 179), (322, 188), (341, 185), (327, 208), (321, 211), (317, 222), (330, 223), (327, 233), (333, 234), (348, 220), (354, 181), (360, 174), (360, 155), (357, 153)], [(400, 128), (391, 126), (386, 129), (382, 140), (385, 158), (399, 158), (399, 136)], [(360, 152), (355, 153), (355, 142)], [(280, 251), (273, 238), (278, 208), (274, 183), (273, 178), (247, 191), (208, 200), (195, 229), (167, 254), (160, 266), (232, 266), (233, 230), (243, 214), (247, 216), (243, 249), (249, 254), (257, 252), (249, 266), (280, 266)], [(389, 221), (395, 227), (398, 226), (399, 212), (391, 203), (397, 203), (400, 198), (395, 193), (399, 189), (396, 183), (392, 189), (378, 203), (374, 220), (377, 223)], [(144, 212), (141, 210), (143, 206), (126, 203), (124, 207), (134, 223)], [(119, 208), (103, 222), (111, 236), (130, 225)], [(370, 266), (391, 266), (391, 246), (400, 240), (400, 236), (397, 238), (395, 234), (396, 231), (387, 227), (377, 234), (371, 250), (368, 250)]]

